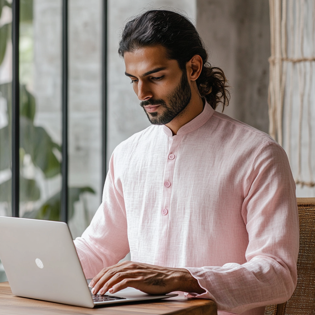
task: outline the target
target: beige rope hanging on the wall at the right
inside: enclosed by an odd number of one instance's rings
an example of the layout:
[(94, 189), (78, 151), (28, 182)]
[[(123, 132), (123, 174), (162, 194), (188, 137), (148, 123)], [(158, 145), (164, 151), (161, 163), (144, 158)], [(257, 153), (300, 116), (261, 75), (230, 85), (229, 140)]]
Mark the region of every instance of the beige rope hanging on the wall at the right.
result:
[(269, 134), (287, 152), (295, 183), (314, 187), (315, 0), (269, 5)]

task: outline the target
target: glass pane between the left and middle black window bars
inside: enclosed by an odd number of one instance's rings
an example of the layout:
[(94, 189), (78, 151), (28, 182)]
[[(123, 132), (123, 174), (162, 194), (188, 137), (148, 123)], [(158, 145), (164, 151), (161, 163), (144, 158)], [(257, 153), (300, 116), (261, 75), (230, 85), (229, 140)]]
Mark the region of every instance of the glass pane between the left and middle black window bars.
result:
[(60, 220), (61, 1), (20, 7), (20, 216)]

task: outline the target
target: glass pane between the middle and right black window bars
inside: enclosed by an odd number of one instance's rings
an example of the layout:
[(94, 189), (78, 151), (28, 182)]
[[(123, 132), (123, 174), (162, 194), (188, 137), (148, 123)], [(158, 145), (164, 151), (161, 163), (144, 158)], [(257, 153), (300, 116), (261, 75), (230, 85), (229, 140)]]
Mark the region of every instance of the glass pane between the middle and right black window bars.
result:
[(69, 227), (81, 236), (101, 200), (102, 1), (69, 2)]

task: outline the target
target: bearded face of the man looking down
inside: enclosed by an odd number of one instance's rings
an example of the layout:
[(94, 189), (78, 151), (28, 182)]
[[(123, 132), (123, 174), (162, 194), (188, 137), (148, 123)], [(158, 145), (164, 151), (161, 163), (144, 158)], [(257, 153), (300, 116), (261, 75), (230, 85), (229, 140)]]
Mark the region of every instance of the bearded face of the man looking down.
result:
[(167, 58), (163, 46), (126, 52), (124, 60), (125, 74), (152, 124), (169, 123), (189, 104), (192, 93), (186, 71)]

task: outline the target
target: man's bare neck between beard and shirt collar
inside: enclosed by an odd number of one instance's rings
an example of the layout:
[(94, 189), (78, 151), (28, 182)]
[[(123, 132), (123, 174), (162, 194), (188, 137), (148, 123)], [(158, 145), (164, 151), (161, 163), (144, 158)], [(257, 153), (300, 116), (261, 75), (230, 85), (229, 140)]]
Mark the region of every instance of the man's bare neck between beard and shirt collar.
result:
[(177, 131), (202, 113), (204, 107), (204, 100), (197, 93), (192, 93), (192, 98), (186, 108), (180, 112), (172, 121), (165, 124), (171, 129), (173, 135), (177, 134)]

